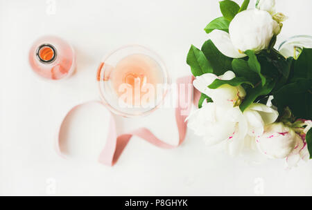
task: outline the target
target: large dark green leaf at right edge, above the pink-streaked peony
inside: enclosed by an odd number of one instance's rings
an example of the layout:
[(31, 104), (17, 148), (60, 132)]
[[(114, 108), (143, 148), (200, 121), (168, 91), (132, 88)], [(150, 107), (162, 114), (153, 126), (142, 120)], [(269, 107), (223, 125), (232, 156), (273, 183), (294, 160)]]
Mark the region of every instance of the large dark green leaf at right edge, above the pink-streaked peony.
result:
[(287, 106), (297, 118), (312, 120), (312, 79), (297, 79), (273, 93), (272, 104), (279, 113)]

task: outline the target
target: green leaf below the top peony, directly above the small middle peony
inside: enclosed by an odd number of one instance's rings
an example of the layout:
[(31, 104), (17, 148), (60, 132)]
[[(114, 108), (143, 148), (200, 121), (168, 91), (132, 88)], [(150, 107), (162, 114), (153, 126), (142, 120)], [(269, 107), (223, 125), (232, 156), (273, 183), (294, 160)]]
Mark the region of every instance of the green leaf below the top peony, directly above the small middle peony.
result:
[(259, 83), (258, 75), (250, 69), (248, 61), (245, 61), (243, 59), (233, 59), (232, 68), (236, 77), (245, 77), (253, 85)]

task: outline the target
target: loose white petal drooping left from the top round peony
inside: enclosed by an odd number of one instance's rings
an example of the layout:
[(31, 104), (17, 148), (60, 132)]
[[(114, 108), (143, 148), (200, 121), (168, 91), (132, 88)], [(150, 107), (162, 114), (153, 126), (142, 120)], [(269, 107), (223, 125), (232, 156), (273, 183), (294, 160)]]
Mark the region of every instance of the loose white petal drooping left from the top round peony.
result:
[(216, 48), (227, 57), (246, 57), (245, 54), (239, 53), (239, 50), (237, 50), (232, 44), (229, 34), (223, 30), (213, 30), (209, 33), (209, 39), (211, 39)]

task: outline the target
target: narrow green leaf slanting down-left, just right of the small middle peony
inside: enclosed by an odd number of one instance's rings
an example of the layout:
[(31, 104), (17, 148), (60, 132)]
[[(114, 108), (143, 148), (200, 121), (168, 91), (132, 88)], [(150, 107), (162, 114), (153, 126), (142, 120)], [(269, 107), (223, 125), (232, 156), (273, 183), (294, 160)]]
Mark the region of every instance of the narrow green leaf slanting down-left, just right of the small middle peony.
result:
[(259, 85), (255, 88), (246, 90), (247, 95), (245, 99), (243, 100), (243, 102), (241, 103), (241, 105), (239, 106), (239, 108), (241, 108), (241, 111), (242, 112), (245, 111), (245, 109), (248, 108), (248, 106), (250, 106), (250, 104), (252, 104), (254, 100), (257, 99), (257, 97), (261, 95), (268, 95), (271, 92), (271, 90), (274, 88), (274, 86), (275, 86), (275, 81), (269, 80), (264, 86)]

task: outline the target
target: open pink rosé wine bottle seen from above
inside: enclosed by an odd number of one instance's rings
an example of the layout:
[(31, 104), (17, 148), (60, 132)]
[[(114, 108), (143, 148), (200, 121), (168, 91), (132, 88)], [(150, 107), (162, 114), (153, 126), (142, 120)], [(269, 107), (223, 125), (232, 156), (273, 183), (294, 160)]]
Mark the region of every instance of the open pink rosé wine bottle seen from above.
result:
[(34, 42), (29, 63), (37, 75), (53, 80), (69, 77), (76, 68), (73, 48), (55, 36), (40, 37)]

